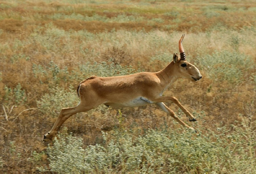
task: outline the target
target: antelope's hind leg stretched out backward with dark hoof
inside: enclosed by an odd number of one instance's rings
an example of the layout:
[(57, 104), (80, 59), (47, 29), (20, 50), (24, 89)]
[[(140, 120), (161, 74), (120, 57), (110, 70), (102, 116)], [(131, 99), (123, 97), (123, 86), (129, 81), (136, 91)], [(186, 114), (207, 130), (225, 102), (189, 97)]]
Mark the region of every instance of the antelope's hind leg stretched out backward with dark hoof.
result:
[(60, 126), (72, 115), (78, 112), (87, 112), (93, 108), (94, 107), (88, 107), (88, 106), (86, 107), (84, 105), (81, 105), (80, 103), (75, 107), (62, 108), (62, 110), (60, 111), (59, 117), (57, 118), (56, 122), (52, 127), (52, 130), (44, 135), (44, 139), (52, 138), (52, 136), (54, 136), (54, 134), (58, 132), (58, 130), (60, 129)]

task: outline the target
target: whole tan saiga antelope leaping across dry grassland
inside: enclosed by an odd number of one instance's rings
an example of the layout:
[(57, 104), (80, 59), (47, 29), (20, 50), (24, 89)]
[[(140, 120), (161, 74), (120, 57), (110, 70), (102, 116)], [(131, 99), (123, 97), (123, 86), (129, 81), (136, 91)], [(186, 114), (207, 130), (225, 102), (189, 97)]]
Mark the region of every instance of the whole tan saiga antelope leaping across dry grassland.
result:
[(191, 81), (197, 81), (202, 78), (196, 66), (186, 60), (186, 54), (182, 46), (184, 36), (182, 35), (179, 41), (180, 55), (178, 53), (173, 54), (171, 63), (159, 72), (139, 72), (114, 77), (92, 76), (80, 82), (77, 86), (77, 95), (80, 97), (80, 102), (75, 107), (63, 108), (60, 111), (52, 130), (44, 135), (44, 139), (52, 138), (70, 116), (78, 112), (87, 112), (101, 104), (121, 108), (156, 104), (181, 125), (195, 130), (180, 120), (164, 104), (164, 102), (174, 102), (187, 115), (189, 121), (196, 121), (194, 116), (180, 104), (178, 99), (171, 96), (162, 96), (164, 91), (179, 78)]

